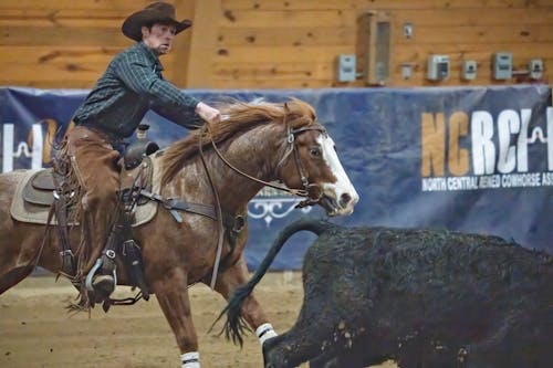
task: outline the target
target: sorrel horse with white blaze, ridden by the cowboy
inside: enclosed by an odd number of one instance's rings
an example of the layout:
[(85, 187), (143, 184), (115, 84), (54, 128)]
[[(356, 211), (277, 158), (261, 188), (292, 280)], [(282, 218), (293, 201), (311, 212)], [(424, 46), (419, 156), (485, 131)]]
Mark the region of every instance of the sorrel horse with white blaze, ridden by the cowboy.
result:
[[(248, 202), (267, 182), (280, 181), (306, 197), (307, 204), (322, 206), (328, 215), (353, 212), (357, 192), (312, 106), (299, 99), (232, 103), (221, 106), (221, 112), (220, 124), (195, 132), (153, 157), (160, 168), (160, 197), (220, 208), (223, 217), (239, 218), (247, 215)], [(17, 221), (10, 214), (14, 188), (23, 175), (24, 170), (0, 176), (0, 294), (27, 277), (33, 262), (54, 273), (61, 267), (58, 232), (45, 232), (44, 225)], [(189, 212), (178, 217), (181, 222), (159, 207), (150, 221), (134, 228), (133, 235), (142, 246), (149, 290), (182, 354), (182, 367), (199, 367), (188, 285), (212, 284), (229, 298), (248, 281), (247, 223), (232, 242), (221, 236), (229, 229), (220, 229), (219, 221)], [(74, 243), (79, 239), (72, 239), (72, 248)], [(125, 272), (119, 272), (117, 282), (128, 285)], [(275, 335), (253, 296), (241, 313), (259, 335), (269, 330), (260, 336), (261, 343)]]

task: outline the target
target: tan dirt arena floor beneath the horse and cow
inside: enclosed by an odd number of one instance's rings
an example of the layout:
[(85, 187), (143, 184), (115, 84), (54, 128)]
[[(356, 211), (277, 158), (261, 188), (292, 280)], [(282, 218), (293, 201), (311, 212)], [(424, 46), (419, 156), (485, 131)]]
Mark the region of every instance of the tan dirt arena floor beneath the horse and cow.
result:
[[(209, 327), (225, 307), (222, 297), (204, 285), (190, 288), (201, 367), (262, 367), (260, 345), (249, 334), (242, 349)], [(65, 280), (33, 276), (0, 296), (1, 368), (160, 368), (180, 367), (179, 350), (155, 297), (134, 306), (101, 307), (91, 315), (67, 315), (76, 295)], [(118, 287), (116, 296), (132, 296)], [(270, 273), (255, 295), (278, 332), (295, 322), (302, 302), (301, 274)], [(302, 365), (307, 367), (307, 365)], [(380, 368), (396, 367), (385, 364)]]

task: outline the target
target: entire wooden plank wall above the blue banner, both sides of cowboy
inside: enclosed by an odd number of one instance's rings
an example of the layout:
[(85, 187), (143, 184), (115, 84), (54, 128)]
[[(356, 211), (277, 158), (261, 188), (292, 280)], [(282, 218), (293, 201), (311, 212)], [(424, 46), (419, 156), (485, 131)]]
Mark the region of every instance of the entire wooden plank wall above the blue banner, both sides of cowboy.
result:
[[(181, 87), (303, 88), (365, 86), (361, 19), (384, 14), (392, 27), (387, 86), (489, 85), (494, 52), (512, 52), (518, 72), (542, 59), (553, 81), (553, 0), (175, 0), (195, 25), (164, 56)], [(119, 50), (126, 15), (145, 0), (1, 0), (0, 85), (88, 88)], [(404, 23), (414, 28), (404, 35)], [(450, 57), (450, 77), (426, 78), (429, 54)], [(336, 82), (336, 57), (356, 54), (359, 80)], [(461, 78), (462, 60), (478, 63)], [(411, 67), (404, 78), (401, 65)]]

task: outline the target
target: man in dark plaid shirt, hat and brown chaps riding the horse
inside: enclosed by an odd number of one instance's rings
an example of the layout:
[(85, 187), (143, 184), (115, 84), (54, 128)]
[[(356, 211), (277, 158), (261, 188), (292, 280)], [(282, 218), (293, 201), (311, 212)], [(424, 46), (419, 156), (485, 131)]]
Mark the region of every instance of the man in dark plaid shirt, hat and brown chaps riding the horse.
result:
[(75, 112), (75, 127), (65, 137), (72, 170), (83, 187), (85, 249), (77, 276), (92, 280), (88, 292), (96, 302), (108, 298), (115, 288), (114, 274), (94, 265), (109, 245), (117, 221), (123, 139), (133, 135), (149, 109), (189, 129), (221, 118), (218, 109), (184, 94), (161, 75), (159, 56), (171, 50), (176, 34), (191, 25), (175, 18), (175, 8), (160, 1), (124, 21), (123, 34), (136, 44), (112, 60)]

